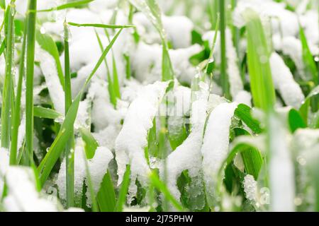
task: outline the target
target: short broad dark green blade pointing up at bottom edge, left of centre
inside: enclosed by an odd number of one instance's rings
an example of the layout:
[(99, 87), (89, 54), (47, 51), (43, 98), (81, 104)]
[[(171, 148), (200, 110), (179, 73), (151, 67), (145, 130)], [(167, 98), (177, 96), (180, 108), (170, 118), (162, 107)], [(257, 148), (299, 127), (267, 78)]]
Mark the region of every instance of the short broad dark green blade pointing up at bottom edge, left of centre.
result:
[(96, 201), (101, 212), (113, 212), (116, 207), (116, 194), (110, 172), (107, 172), (103, 177), (101, 188), (96, 195)]

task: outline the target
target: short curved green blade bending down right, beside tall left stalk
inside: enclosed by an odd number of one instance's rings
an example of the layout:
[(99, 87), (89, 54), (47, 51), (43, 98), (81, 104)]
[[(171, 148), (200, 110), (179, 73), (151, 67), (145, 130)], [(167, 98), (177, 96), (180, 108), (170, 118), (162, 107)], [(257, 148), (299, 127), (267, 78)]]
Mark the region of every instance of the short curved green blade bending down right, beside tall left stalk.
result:
[(50, 37), (50, 35), (42, 34), (40, 30), (36, 30), (36, 40), (40, 47), (48, 52), (54, 59), (57, 66), (57, 75), (59, 76), (62, 89), (65, 89), (65, 78), (62, 71), (62, 66), (60, 62), (60, 54), (57, 50), (57, 45), (55, 41)]

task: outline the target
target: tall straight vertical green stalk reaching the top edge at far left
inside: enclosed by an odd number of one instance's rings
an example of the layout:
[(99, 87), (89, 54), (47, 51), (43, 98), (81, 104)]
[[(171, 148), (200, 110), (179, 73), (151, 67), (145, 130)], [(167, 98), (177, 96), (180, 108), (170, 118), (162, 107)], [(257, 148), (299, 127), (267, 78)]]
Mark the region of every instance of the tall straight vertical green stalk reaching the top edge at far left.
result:
[(26, 48), (26, 155), (27, 165), (33, 160), (33, 74), (35, 58), (35, 25), (37, 1), (30, 0), (27, 12)]

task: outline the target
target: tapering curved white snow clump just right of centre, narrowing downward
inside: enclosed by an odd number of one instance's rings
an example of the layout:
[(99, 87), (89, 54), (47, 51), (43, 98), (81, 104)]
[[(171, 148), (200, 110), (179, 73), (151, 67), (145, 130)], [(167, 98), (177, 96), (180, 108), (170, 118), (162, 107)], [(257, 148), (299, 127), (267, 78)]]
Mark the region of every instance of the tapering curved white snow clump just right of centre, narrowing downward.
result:
[(212, 185), (212, 179), (216, 179), (218, 170), (227, 157), (230, 124), (236, 108), (236, 103), (222, 103), (213, 109), (208, 118), (201, 148), (203, 174), (208, 185)]

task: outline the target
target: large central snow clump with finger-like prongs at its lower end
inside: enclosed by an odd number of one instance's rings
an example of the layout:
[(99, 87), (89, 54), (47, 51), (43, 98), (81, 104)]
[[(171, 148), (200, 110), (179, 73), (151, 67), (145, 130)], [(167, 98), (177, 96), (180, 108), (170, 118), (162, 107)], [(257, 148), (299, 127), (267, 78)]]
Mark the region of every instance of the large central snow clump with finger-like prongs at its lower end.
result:
[(130, 104), (123, 128), (116, 138), (116, 162), (118, 164), (118, 185), (123, 180), (126, 165), (131, 165), (131, 182), (135, 179), (147, 183), (150, 168), (145, 159), (144, 147), (147, 145), (147, 131), (157, 114), (168, 83), (156, 82), (145, 86), (138, 97)]

